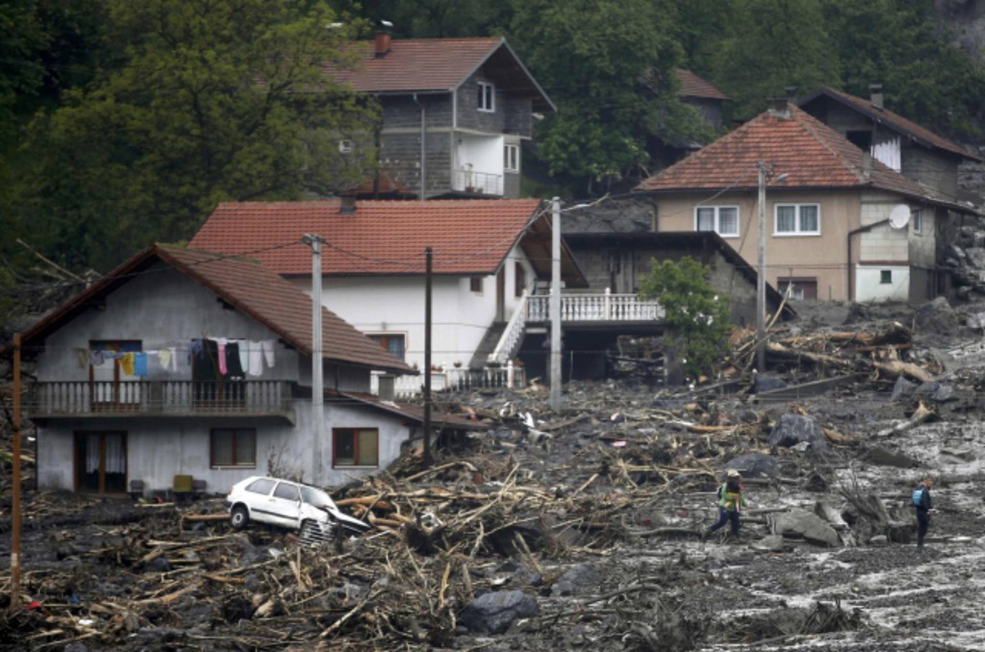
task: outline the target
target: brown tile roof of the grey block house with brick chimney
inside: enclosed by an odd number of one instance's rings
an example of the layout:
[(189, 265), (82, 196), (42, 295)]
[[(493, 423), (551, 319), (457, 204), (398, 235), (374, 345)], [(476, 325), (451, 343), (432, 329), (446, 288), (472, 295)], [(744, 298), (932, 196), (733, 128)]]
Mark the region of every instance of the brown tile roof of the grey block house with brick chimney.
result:
[(510, 69), (528, 78), (523, 86), (529, 86), (528, 90), (540, 97), (535, 101), (537, 107), (554, 108), (505, 38), (394, 38), (390, 41), (390, 51), (381, 57), (375, 55), (372, 40), (360, 41), (355, 47), (360, 54), (355, 68), (338, 70), (328, 63), (322, 70), (361, 93), (451, 91), (501, 48), (502, 56), (512, 59)]

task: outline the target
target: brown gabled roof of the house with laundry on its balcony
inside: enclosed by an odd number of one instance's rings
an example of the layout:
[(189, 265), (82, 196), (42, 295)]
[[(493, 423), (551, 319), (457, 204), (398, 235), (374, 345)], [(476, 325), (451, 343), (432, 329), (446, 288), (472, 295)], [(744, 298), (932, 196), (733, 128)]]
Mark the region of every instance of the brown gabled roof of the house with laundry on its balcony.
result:
[[(260, 322), (305, 356), (311, 356), (311, 298), (259, 262), (209, 251), (156, 244), (131, 257), (49, 314), (25, 335), (25, 341), (40, 339), (87, 309), (92, 298), (110, 293), (158, 260), (221, 296), (235, 309)], [(393, 358), (333, 312), (322, 308), (323, 356), (361, 366), (410, 372), (404, 362)]]

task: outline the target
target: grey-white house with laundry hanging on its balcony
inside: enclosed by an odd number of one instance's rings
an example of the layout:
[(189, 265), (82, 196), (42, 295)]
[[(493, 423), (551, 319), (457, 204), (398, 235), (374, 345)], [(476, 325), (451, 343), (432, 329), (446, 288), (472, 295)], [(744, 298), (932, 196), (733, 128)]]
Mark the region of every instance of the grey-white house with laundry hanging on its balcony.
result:
[(423, 435), (422, 416), (369, 395), (370, 372), (411, 369), (323, 308), (315, 432), (311, 312), (253, 260), (166, 245), (134, 255), (24, 335), (38, 486), (155, 492), (191, 476), (222, 492), (251, 475), (340, 485), (386, 468)]

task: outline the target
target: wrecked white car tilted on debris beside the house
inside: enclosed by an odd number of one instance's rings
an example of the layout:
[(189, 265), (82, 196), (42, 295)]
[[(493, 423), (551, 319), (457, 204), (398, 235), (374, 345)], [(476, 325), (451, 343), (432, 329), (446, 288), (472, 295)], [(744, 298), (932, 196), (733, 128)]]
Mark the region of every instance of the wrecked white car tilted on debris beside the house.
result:
[[(250, 521), (299, 530), (302, 540), (327, 541), (344, 532), (362, 533), (367, 523), (342, 513), (325, 491), (277, 478), (253, 476), (232, 486), (226, 497), (230, 524), (242, 530)], [(336, 527), (341, 525), (341, 532)], [(337, 539), (337, 541), (341, 541)]]

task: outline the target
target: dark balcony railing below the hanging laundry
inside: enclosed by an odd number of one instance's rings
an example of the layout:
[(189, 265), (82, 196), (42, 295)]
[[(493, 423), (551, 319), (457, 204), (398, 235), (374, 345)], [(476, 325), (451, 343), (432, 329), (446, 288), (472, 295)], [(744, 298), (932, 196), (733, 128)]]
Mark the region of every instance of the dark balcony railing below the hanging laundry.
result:
[(29, 416), (273, 415), (291, 408), (288, 380), (124, 380), (38, 382)]

